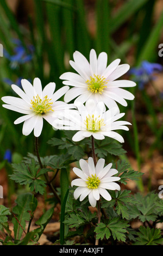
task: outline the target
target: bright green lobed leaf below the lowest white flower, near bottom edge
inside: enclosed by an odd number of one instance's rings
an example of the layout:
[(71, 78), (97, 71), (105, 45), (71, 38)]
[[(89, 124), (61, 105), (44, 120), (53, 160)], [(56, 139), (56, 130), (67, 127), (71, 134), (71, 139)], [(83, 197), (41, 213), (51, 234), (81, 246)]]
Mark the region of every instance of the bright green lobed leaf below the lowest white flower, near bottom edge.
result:
[(126, 241), (127, 228), (129, 224), (121, 220), (119, 217), (110, 218), (109, 221), (105, 223), (99, 223), (95, 228), (96, 238), (97, 239), (109, 239), (110, 236), (113, 237), (114, 240), (118, 241)]

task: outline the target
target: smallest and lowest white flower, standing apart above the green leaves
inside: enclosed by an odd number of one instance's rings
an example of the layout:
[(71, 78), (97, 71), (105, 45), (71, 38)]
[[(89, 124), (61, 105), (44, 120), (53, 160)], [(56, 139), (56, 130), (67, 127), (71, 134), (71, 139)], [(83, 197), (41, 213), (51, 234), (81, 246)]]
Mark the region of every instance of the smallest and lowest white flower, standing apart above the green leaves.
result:
[(99, 159), (96, 167), (92, 157), (88, 162), (83, 159), (79, 161), (79, 168), (74, 167), (73, 172), (79, 177), (71, 182), (71, 186), (78, 186), (74, 191), (74, 198), (82, 201), (85, 197), (89, 197), (92, 207), (96, 206), (97, 200), (102, 196), (105, 200), (110, 201), (111, 196), (107, 190), (120, 190), (120, 185), (115, 181), (120, 177), (113, 176), (118, 173), (116, 169), (111, 169), (112, 163), (104, 167), (105, 160)]

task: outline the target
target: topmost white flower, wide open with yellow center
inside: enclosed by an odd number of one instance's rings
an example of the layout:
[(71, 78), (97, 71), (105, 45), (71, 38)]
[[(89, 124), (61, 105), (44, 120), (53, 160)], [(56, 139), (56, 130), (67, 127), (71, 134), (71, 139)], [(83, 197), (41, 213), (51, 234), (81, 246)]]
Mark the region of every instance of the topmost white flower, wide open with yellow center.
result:
[(108, 108), (111, 108), (117, 106), (116, 102), (127, 106), (126, 100), (134, 99), (133, 94), (122, 88), (134, 87), (136, 83), (117, 80), (129, 70), (128, 64), (119, 65), (121, 60), (116, 59), (107, 66), (107, 54), (101, 52), (97, 58), (93, 49), (90, 51), (90, 63), (78, 51), (74, 52), (73, 58), (74, 62), (70, 60), (70, 65), (78, 74), (66, 72), (60, 76), (60, 79), (65, 80), (64, 84), (73, 86), (65, 94), (65, 102), (70, 102), (76, 97), (76, 101), (82, 103), (88, 99), (94, 99), (97, 102), (103, 101)]

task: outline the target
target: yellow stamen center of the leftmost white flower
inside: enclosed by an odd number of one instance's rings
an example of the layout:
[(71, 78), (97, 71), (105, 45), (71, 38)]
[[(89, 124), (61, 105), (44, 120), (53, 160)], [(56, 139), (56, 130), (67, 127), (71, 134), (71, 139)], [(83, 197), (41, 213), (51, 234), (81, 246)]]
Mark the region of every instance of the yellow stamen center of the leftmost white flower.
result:
[(37, 96), (33, 96), (33, 100), (30, 101), (32, 107), (30, 107), (30, 109), (33, 109), (35, 112), (40, 113), (40, 114), (44, 114), (48, 111), (54, 111), (52, 109), (52, 104), (53, 102), (51, 101), (52, 99), (48, 99), (48, 96), (46, 95), (45, 97), (43, 97), (43, 100), (39, 97), (39, 95), (37, 94)]

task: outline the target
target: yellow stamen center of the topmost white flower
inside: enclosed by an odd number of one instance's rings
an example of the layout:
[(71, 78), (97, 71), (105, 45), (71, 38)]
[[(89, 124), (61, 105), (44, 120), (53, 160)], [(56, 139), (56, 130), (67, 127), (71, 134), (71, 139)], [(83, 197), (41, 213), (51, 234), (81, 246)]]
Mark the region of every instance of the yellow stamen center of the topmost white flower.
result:
[(105, 77), (101, 77), (99, 75), (90, 76), (90, 80), (87, 80), (86, 83), (88, 85), (87, 89), (91, 90), (92, 93), (99, 93), (102, 94), (103, 89), (107, 88), (104, 84), (106, 84), (108, 80)]

